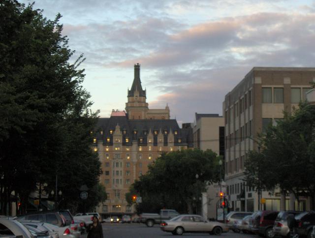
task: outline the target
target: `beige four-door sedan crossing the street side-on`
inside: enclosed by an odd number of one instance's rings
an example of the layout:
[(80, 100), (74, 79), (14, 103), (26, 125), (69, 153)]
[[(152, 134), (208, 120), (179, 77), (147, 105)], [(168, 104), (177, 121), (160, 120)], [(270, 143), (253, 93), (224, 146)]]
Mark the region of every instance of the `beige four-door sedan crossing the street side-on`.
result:
[(221, 235), (228, 232), (226, 224), (216, 221), (207, 221), (199, 215), (179, 215), (171, 220), (162, 221), (160, 229), (164, 232), (171, 232), (173, 235), (183, 235), (184, 233), (210, 233)]

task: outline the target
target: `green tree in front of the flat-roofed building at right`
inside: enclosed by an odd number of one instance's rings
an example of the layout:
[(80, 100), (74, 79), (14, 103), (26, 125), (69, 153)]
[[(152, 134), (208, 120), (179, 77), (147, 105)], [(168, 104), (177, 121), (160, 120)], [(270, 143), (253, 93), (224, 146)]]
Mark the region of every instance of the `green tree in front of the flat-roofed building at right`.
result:
[(246, 178), (256, 188), (279, 187), (283, 192), (309, 195), (315, 208), (315, 106), (300, 103), (292, 114), (284, 114), (258, 138), (260, 153), (245, 161)]

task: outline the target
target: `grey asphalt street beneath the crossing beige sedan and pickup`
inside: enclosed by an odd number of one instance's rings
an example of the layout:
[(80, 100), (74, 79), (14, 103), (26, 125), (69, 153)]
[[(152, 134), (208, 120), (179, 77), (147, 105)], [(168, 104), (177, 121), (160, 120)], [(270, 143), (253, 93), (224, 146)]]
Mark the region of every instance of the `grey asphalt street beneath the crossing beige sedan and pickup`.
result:
[[(160, 230), (159, 225), (152, 228), (147, 227), (145, 224), (138, 223), (125, 223), (125, 224), (110, 224), (103, 223), (104, 238), (160, 238), (160, 237), (174, 237), (171, 233), (166, 233)], [(85, 235), (86, 236), (86, 235)], [(84, 237), (85, 237), (84, 236)], [(209, 234), (191, 234), (187, 233), (184, 237), (196, 238), (209, 238)], [(216, 237), (216, 236), (211, 236)], [(218, 236), (219, 237), (219, 236)], [(247, 235), (243, 233), (222, 233), (221, 238), (258, 238), (255, 235)]]

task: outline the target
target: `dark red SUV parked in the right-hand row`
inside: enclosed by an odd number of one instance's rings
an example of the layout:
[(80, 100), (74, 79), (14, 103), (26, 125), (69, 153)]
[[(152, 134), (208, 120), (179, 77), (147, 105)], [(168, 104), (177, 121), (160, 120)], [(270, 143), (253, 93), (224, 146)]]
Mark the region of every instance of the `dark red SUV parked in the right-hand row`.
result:
[(253, 217), (252, 232), (267, 238), (275, 237), (272, 228), (279, 211), (257, 211)]

